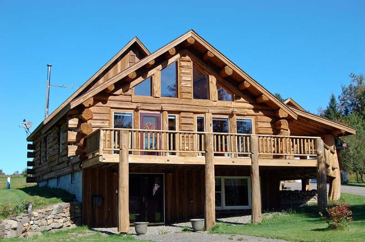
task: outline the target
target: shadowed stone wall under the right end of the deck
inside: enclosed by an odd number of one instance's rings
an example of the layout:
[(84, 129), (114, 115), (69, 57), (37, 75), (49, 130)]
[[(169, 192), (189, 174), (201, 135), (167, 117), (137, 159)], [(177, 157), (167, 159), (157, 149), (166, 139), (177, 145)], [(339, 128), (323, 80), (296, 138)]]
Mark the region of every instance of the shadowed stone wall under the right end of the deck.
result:
[(281, 190), (280, 204), (282, 207), (286, 205), (302, 205), (306, 203), (317, 202), (317, 190), (301, 191), (301, 190)]

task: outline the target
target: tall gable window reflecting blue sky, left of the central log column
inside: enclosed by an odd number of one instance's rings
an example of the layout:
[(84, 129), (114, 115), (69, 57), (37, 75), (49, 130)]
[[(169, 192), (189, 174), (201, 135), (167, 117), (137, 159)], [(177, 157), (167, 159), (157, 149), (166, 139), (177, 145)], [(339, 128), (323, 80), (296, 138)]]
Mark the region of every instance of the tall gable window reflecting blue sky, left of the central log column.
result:
[(177, 98), (176, 62), (161, 70), (161, 96)]

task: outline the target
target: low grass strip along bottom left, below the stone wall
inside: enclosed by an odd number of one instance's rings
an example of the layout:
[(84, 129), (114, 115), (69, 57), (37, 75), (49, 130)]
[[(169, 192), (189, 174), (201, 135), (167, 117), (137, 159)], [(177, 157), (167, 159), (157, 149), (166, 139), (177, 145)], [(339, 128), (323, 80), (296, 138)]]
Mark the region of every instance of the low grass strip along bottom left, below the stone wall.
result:
[[(24, 238), (9, 238), (4, 241), (25, 241)], [(88, 227), (77, 227), (66, 231), (60, 231), (56, 233), (45, 232), (41, 236), (34, 236), (28, 238), (26, 241), (37, 242), (57, 242), (57, 241), (108, 241), (108, 242), (134, 242), (134, 241), (151, 241), (152, 240), (137, 240), (131, 235), (106, 235), (100, 232), (92, 231)]]

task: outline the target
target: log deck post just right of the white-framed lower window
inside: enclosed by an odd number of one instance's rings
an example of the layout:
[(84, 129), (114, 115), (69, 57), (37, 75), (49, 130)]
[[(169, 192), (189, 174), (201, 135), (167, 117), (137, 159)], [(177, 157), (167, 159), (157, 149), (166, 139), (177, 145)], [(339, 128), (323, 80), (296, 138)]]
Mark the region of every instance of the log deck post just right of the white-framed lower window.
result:
[(252, 216), (253, 224), (261, 223), (261, 190), (259, 174), (259, 137), (251, 135), (251, 187), (252, 187)]

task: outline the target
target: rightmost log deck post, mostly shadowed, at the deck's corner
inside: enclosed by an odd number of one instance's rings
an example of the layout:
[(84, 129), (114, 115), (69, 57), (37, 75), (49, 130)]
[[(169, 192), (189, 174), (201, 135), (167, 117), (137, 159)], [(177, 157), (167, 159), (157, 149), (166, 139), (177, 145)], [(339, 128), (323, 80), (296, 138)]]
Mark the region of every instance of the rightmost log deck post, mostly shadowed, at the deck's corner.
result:
[(317, 199), (318, 199), (318, 212), (324, 212), (327, 206), (327, 189), (326, 189), (326, 170), (324, 163), (324, 147), (323, 140), (316, 139), (316, 151), (317, 151)]

